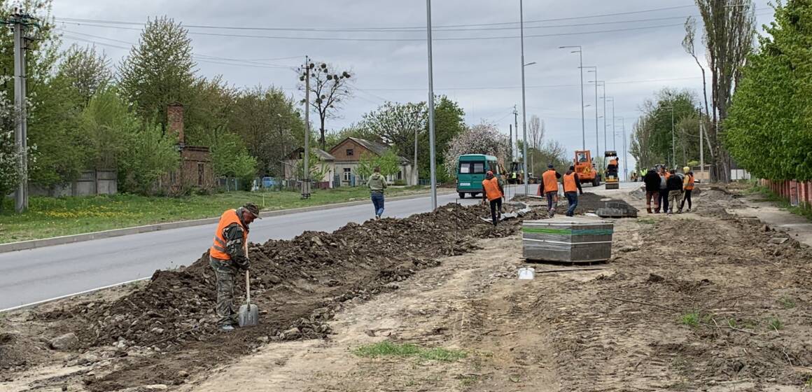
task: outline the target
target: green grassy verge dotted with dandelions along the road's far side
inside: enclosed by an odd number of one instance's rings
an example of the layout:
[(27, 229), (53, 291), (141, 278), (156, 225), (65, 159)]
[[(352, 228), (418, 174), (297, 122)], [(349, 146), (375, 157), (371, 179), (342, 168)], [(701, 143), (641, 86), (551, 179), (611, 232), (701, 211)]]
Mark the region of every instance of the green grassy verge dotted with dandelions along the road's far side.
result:
[[(427, 187), (387, 189), (387, 196), (407, 196), (427, 192)], [(339, 187), (315, 190), (309, 200), (299, 192), (222, 192), (184, 197), (109, 195), (83, 197), (31, 197), (25, 213), (14, 213), (13, 201), (0, 197), (0, 243), (76, 235), (124, 227), (216, 218), (226, 209), (246, 202), (263, 210), (293, 209), (368, 200), (365, 187)]]

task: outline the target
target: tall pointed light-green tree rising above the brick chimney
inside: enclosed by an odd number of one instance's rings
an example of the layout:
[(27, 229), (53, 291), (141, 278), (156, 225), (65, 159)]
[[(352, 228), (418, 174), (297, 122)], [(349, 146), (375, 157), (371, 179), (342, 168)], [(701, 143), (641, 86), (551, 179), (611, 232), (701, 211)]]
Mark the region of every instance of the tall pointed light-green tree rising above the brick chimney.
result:
[(119, 85), (140, 118), (166, 129), (166, 107), (192, 99), (195, 67), (188, 31), (166, 16), (149, 19), (119, 66)]

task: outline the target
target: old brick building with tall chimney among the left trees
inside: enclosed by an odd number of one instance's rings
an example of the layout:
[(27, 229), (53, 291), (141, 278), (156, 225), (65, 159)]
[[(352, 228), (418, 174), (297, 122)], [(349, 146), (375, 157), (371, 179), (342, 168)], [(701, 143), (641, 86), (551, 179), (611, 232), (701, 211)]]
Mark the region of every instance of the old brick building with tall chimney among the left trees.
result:
[(184, 106), (179, 103), (166, 108), (166, 128), (178, 133), (180, 164), (177, 170), (164, 174), (159, 187), (169, 193), (184, 192), (186, 189), (214, 189), (214, 166), (208, 147), (186, 145), (184, 139)]

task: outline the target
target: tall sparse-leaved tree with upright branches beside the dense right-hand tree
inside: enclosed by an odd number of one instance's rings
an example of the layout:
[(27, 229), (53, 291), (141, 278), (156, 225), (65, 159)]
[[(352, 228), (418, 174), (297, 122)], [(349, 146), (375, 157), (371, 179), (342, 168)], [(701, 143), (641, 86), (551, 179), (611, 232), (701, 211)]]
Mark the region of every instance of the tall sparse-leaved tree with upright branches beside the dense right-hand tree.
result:
[(728, 117), (741, 68), (753, 50), (755, 6), (752, 0), (696, 0), (696, 3), (705, 26), (702, 41), (712, 75), (709, 147), (716, 179), (726, 183), (730, 181), (730, 162), (722, 147), (721, 123)]

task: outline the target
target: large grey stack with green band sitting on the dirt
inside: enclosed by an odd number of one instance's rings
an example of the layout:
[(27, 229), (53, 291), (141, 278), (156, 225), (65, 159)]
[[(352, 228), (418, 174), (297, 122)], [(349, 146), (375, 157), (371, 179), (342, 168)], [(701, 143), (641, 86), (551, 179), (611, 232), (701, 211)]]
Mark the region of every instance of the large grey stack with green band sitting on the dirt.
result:
[(611, 258), (611, 222), (559, 217), (522, 223), (523, 256), (528, 261), (591, 263)]

